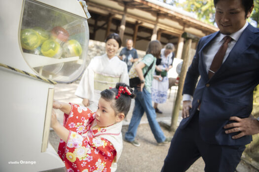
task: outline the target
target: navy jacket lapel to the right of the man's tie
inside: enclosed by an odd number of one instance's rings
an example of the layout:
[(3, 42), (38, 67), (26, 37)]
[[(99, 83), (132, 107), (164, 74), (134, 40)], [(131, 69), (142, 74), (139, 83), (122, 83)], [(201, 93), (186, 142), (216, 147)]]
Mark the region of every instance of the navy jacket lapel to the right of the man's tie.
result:
[(229, 66), (231, 66), (231, 64), (234, 60), (236, 60), (236, 58), (238, 58), (241, 54), (244, 53), (245, 50), (247, 50), (247, 48), (258, 37), (258, 35), (256, 35), (255, 32), (258, 32), (258, 30), (256, 30), (249, 24), (241, 34), (240, 38), (236, 42), (235, 46), (229, 53), (226, 60), (223, 62), (220, 69), (215, 73), (215, 75), (211, 79), (214, 80), (215, 78), (217, 78), (217, 76), (220, 76)]

